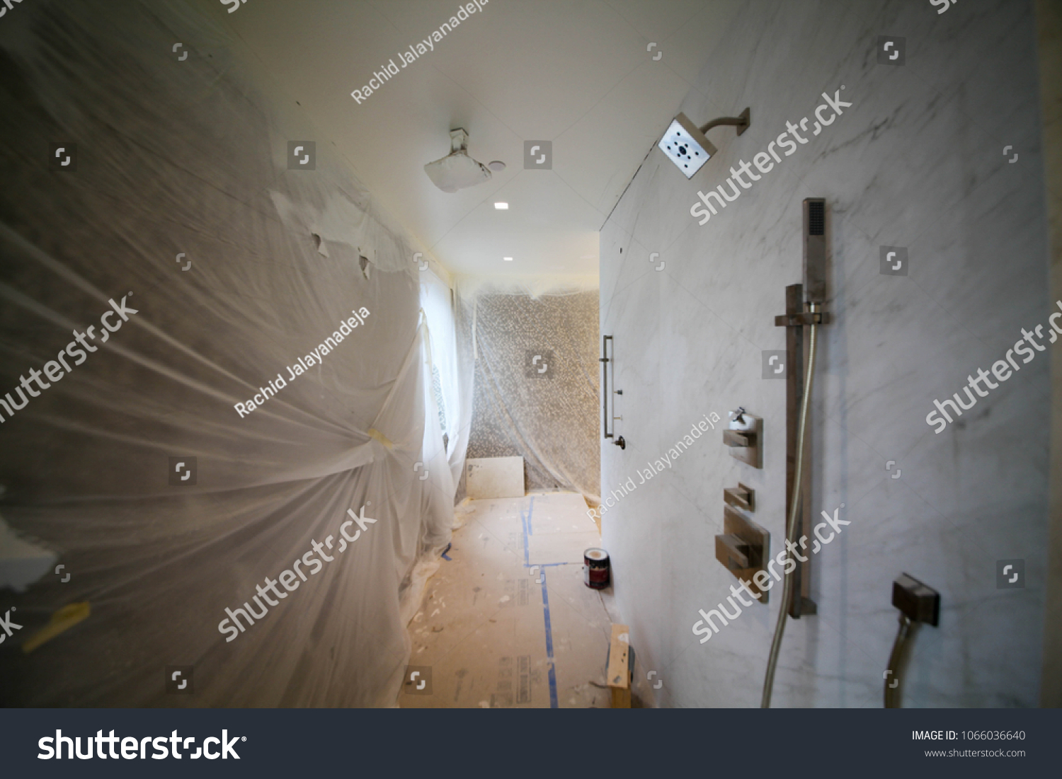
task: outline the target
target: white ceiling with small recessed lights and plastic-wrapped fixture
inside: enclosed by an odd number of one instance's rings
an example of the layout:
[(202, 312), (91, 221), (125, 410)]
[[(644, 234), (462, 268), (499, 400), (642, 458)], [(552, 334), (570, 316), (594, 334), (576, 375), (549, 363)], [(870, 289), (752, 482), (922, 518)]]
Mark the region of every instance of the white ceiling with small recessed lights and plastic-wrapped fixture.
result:
[[(227, 21), (451, 272), (596, 276), (598, 230), (738, 5), (491, 0), (360, 105), (350, 91), (392, 58), (400, 67), (397, 52), (457, 0), (247, 0)], [(449, 153), (452, 127), (468, 132), (474, 159), (508, 168), (436, 189), (424, 165)], [(525, 140), (552, 141), (552, 170), (524, 170)]]

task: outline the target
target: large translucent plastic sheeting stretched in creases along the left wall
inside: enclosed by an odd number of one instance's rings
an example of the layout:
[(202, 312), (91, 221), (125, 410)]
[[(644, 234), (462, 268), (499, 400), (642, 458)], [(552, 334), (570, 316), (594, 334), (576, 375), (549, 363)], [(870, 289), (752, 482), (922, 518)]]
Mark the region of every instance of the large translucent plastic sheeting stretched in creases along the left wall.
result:
[(205, 8), (0, 23), (0, 394), (68, 356), (0, 406), (0, 514), (69, 574), (0, 588), (5, 705), (393, 706), (449, 538), (415, 247)]

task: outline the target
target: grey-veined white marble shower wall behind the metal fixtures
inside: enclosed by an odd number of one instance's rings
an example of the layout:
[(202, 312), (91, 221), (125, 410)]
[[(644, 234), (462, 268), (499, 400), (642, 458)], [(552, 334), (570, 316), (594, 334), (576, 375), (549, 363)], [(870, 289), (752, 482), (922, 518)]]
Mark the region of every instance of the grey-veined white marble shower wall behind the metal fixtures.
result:
[[(903, 64), (878, 63), (879, 36), (905, 39)], [(811, 135), (823, 92), (852, 106)], [(943, 432), (926, 422), (935, 399), (961, 393), (1056, 309), (1031, 3), (943, 14), (898, 0), (746, 3), (676, 109), (700, 124), (746, 106), (749, 131), (710, 131), (719, 154), (688, 181), (652, 151), (602, 230), (601, 327), (615, 336), (628, 443), (602, 442), (602, 496), (635, 484), (602, 532), (640, 679), (655, 670), (664, 681), (644, 694), (662, 706), (759, 704), (781, 587), (706, 643), (692, 626), (735, 583), (714, 553), (723, 487), (756, 490), (752, 517), (781, 549), (785, 382), (761, 378), (761, 352), (785, 348), (774, 316), (801, 280), (801, 202), (821, 196), (834, 318), (816, 374), (811, 501), (816, 515), (844, 504), (851, 524), (816, 555), (819, 613), (789, 621), (774, 706), (881, 706), (903, 572), (941, 593), (939, 627), (915, 639), (905, 705), (1034, 706), (1048, 367), (1062, 345), (1034, 352)], [(807, 142), (699, 225), (698, 191), (730, 193), (731, 167), (804, 117)], [(880, 246), (907, 248), (906, 276), (880, 272)], [(738, 405), (764, 418), (763, 469), (731, 457), (716, 430), (641, 483), (638, 471), (705, 414)], [(1008, 558), (1025, 560), (1024, 588), (997, 589)]]

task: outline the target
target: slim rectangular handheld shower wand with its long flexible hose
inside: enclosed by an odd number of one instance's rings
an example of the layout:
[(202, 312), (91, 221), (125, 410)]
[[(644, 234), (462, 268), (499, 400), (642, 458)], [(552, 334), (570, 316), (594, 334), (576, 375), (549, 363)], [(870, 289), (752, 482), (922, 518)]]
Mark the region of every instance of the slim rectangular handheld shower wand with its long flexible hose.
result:
[[(786, 517), (787, 549), (792, 549), (792, 544), (796, 542), (798, 519), (801, 516), (801, 486), (804, 481), (804, 442), (807, 433), (808, 406), (811, 402), (811, 386), (815, 379), (818, 326), (825, 323), (824, 315), (822, 314), (822, 304), (826, 297), (825, 207), (826, 203), (822, 197), (808, 197), (804, 201), (803, 292), (808, 310), (806, 313), (798, 313), (795, 315), (789, 313), (786, 316), (780, 316), (775, 319), (775, 324), (785, 325), (786, 327), (803, 328), (805, 325), (810, 326), (807, 368), (804, 373), (804, 391), (800, 402), (800, 422), (795, 440), (795, 468), (791, 483), (789, 512)], [(782, 319), (782, 322), (778, 322), (778, 319)], [(771, 651), (767, 658), (764, 694), (759, 703), (760, 708), (764, 709), (771, 707), (771, 693), (774, 690), (774, 671), (778, 663), (778, 652), (782, 650), (782, 637), (786, 630), (786, 616), (789, 612), (790, 602), (794, 598), (800, 598), (800, 593), (793, 592), (793, 572), (795, 570), (795, 567), (787, 570), (782, 587), (782, 604), (778, 609), (778, 621), (774, 628), (774, 638), (771, 640)], [(798, 617), (800, 611), (796, 611)]]

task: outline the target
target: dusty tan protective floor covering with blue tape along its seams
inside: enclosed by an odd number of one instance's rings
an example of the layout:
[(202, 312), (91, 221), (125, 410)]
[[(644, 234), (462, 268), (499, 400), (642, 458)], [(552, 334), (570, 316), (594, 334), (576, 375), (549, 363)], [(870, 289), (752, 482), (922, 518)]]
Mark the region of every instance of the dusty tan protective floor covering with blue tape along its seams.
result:
[(601, 543), (585, 501), (550, 492), (463, 505), (451, 540), (461, 554), (410, 624), (431, 694), (404, 686), (398, 705), (609, 708), (609, 690), (587, 682), (605, 670), (612, 620), (583, 584), (583, 551)]

